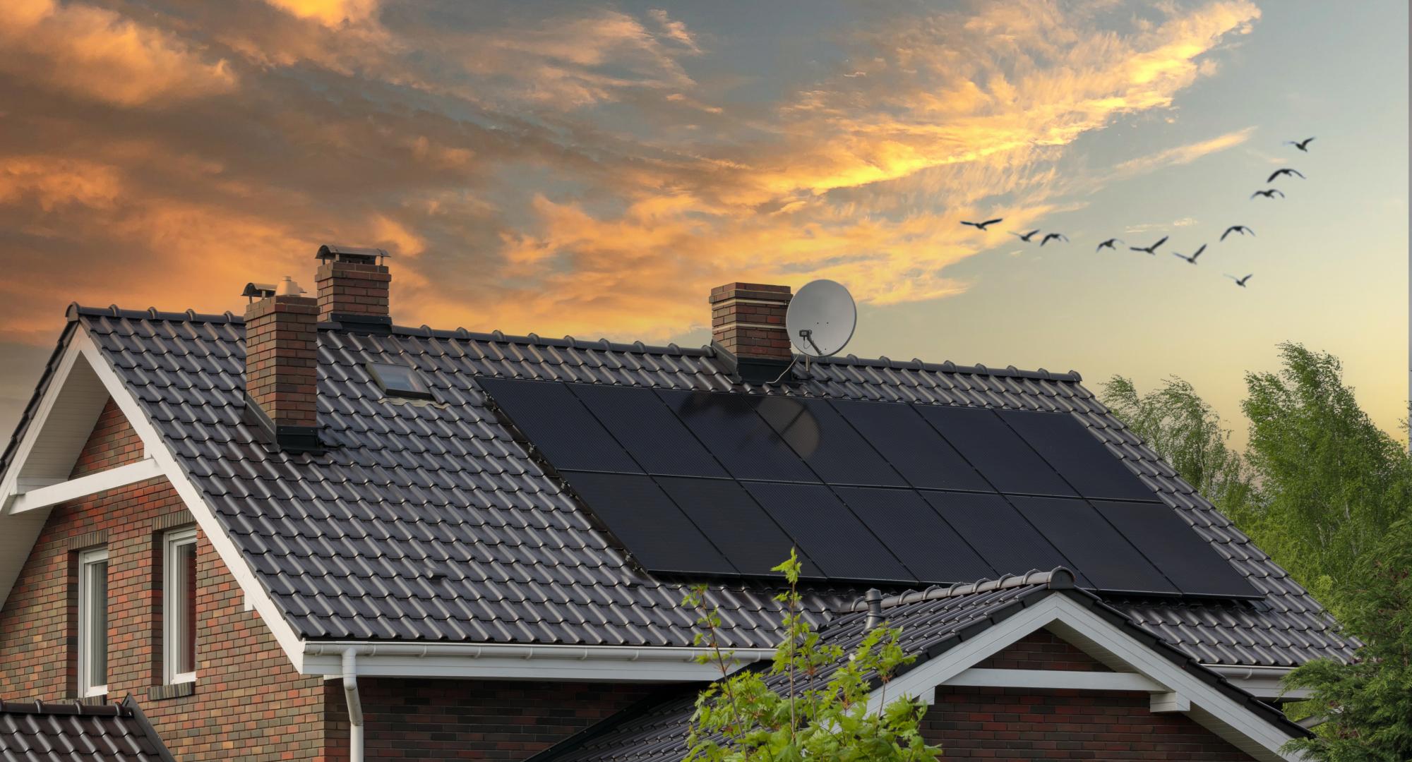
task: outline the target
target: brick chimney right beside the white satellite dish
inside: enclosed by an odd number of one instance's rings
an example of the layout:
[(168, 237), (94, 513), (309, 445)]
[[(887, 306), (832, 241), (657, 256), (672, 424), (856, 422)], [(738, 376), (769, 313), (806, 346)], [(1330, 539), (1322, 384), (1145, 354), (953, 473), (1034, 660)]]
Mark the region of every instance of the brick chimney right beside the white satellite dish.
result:
[(794, 353), (785, 332), (789, 286), (726, 284), (710, 291), (712, 343), (730, 353), (744, 381), (778, 378)]

